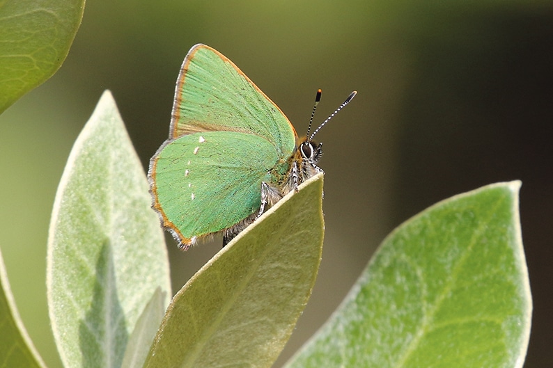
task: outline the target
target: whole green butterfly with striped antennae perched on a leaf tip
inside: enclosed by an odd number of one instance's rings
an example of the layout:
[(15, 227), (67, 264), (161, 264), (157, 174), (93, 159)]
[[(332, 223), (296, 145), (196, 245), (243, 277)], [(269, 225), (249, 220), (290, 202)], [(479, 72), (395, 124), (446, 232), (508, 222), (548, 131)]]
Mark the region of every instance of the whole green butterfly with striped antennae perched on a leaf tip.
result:
[(322, 171), (322, 143), (313, 136), (355, 93), (300, 140), (281, 109), (232, 61), (206, 45), (192, 47), (177, 80), (169, 139), (148, 170), (163, 227), (185, 250), (218, 232), (224, 244), (231, 241)]

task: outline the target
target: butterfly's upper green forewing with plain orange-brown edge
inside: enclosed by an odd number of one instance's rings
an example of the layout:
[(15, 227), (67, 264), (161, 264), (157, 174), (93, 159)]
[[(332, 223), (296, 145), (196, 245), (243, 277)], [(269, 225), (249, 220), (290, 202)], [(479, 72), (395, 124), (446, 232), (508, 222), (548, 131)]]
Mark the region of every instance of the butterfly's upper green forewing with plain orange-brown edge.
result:
[(280, 157), (290, 157), (297, 136), (288, 118), (219, 51), (196, 45), (178, 77), (170, 138), (199, 131), (262, 136)]

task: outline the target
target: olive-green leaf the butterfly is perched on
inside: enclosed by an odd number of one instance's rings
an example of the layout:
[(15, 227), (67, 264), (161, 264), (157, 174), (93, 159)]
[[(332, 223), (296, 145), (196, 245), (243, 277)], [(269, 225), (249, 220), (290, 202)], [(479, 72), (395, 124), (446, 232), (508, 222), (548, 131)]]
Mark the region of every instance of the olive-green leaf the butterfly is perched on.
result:
[(144, 367), (270, 367), (311, 295), (323, 231), (321, 174), (180, 289)]

